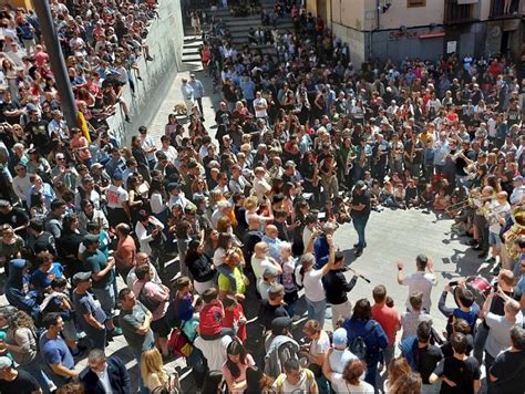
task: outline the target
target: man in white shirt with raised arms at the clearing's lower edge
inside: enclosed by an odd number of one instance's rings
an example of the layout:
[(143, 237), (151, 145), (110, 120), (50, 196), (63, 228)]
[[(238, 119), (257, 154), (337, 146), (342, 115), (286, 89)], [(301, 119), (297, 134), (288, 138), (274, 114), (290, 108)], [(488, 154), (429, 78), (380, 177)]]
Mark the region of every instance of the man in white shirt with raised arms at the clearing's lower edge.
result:
[[(412, 294), (414, 291), (421, 291), (423, 293), (423, 310), (430, 313), (432, 305), (430, 294), (432, 287), (437, 284), (437, 278), (434, 273), (434, 261), (424, 255), (418, 255), (415, 267), (418, 269), (416, 272), (403, 276), (404, 265), (398, 261), (398, 283), (408, 286), (409, 294)], [(429, 272), (426, 272), (426, 269), (429, 269)], [(406, 298), (406, 308), (409, 311), (412, 310), (409, 298)]]

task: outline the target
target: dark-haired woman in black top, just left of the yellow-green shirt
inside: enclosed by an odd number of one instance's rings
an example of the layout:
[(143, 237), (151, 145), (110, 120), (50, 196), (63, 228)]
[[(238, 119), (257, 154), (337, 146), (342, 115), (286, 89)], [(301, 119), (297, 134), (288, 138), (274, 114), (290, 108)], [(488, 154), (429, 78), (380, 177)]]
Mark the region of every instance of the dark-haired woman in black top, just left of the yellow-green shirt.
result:
[(189, 241), (184, 262), (193, 276), (193, 284), (197, 293), (202, 294), (206, 289), (214, 286), (215, 269), (199, 239)]

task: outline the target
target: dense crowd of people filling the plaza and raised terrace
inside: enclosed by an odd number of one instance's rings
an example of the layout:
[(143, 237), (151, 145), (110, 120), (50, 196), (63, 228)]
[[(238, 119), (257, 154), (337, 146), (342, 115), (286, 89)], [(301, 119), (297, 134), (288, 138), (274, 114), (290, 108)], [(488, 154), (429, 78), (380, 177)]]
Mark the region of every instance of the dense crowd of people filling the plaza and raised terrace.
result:
[[(277, 56), (237, 50), (213, 17), (204, 33), (215, 133), (191, 74), (187, 122), (125, 146), (105, 118), (153, 61), (155, 2), (50, 3), (78, 127), (38, 19), (1, 11), (0, 393), (176, 393), (172, 357), (202, 393), (523, 393), (525, 51), (358, 68), (321, 18), (276, 0), (295, 30), (254, 37)], [(404, 305), (375, 283), (352, 299), (334, 232), (353, 226), (359, 258), (385, 208), (454, 219), (491, 276), (439, 281), (421, 253), (414, 272), (398, 262)], [(121, 335), (138, 382), (105, 353)]]

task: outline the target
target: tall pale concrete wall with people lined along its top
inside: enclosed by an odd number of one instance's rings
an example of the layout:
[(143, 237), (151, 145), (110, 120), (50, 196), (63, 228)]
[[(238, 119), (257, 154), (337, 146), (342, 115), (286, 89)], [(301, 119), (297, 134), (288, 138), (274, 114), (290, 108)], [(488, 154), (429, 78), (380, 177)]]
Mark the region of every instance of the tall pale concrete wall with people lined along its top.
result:
[(122, 144), (130, 144), (138, 126), (151, 124), (181, 68), (184, 43), (181, 0), (161, 0), (158, 14), (161, 18), (153, 21), (146, 39), (154, 61), (146, 62), (141, 58), (138, 68), (143, 81), (133, 76), (135, 95), (132, 95), (128, 86), (123, 95), (130, 107), (132, 123), (124, 121), (122, 111), (107, 120)]

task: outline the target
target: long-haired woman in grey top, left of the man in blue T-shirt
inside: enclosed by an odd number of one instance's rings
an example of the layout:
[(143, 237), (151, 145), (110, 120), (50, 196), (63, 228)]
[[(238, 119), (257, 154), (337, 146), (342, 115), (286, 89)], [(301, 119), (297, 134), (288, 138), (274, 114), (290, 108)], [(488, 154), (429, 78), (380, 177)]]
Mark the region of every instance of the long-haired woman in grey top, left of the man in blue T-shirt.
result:
[(38, 346), (38, 332), (31, 317), (18, 311), (8, 317), (8, 331), (6, 341), (0, 344), (17, 362), (18, 370), (30, 373), (42, 387), (43, 393), (50, 392), (52, 382), (42, 370), (43, 361), (40, 357)]

